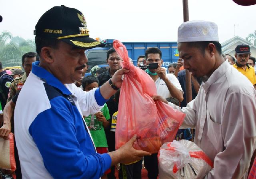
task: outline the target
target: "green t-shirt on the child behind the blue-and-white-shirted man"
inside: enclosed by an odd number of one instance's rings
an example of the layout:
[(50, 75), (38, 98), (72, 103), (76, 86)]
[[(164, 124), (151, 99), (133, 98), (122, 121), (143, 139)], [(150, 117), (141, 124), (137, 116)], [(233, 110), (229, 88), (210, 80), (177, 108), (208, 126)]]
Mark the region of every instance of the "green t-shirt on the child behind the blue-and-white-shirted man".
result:
[[(106, 105), (106, 103), (104, 104), (104, 107), (100, 109), (100, 111), (102, 112), (106, 120), (110, 119), (108, 106)], [(88, 117), (84, 117), (84, 120), (88, 128), (90, 129), (90, 133), (92, 135), (95, 147), (108, 147), (106, 134), (102, 122), (98, 121), (94, 114), (89, 115)]]

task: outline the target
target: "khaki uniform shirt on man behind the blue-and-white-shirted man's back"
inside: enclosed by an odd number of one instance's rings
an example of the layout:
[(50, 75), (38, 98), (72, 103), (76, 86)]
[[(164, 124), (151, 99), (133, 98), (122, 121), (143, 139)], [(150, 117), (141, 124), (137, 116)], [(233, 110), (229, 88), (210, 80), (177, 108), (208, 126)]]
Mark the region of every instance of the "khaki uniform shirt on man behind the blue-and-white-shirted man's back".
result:
[(18, 78), (15, 78), (14, 80), (12, 80), (10, 90), (8, 93), (7, 102), (9, 102), (12, 99), (12, 97), (14, 97), (14, 95), (16, 95), (16, 93), (19, 90), (21, 90), (21, 88), (23, 87), (26, 80), (27, 80), (26, 73), (24, 73), (24, 75), (22, 77), (18, 77)]

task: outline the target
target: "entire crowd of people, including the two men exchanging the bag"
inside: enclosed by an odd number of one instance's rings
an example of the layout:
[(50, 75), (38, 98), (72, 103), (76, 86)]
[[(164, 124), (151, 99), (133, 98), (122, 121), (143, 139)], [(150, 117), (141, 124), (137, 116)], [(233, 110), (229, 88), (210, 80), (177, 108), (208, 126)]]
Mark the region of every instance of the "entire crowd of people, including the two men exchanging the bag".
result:
[[(45, 12), (34, 33), (37, 53), (22, 56), (24, 74), (9, 75), (0, 64), (0, 137), (15, 135), (16, 178), (115, 179), (118, 165), (118, 178), (139, 179), (144, 163), (148, 178), (156, 179), (157, 153), (134, 149), (136, 135), (115, 149), (122, 76), (129, 73), (116, 50), (106, 54), (108, 68), (95, 66), (85, 76), (90, 61), (84, 50), (103, 44), (89, 37), (83, 14), (65, 6)], [(250, 177), (256, 148), (250, 47), (241, 44), (234, 57), (222, 55), (217, 25), (189, 21), (178, 28), (178, 51), (178, 62), (167, 69), (158, 48), (148, 48), (135, 64), (157, 63), (155, 69), (143, 69), (156, 85), (152, 98), (186, 114), (175, 139), (194, 141), (214, 162), (206, 178)], [(190, 103), (185, 69), (192, 73)], [(13, 173), (1, 169), (0, 174), (11, 178)]]

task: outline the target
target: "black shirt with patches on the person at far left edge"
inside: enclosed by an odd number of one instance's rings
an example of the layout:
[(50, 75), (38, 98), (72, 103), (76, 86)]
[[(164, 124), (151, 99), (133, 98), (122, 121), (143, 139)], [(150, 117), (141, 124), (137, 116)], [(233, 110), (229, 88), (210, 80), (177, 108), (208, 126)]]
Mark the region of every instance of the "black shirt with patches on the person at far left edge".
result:
[[(8, 93), (10, 90), (11, 82), (13, 80), (12, 76), (6, 74), (6, 70), (0, 72), (0, 87), (2, 92), (0, 93), (0, 102), (2, 105), (2, 109), (6, 105), (6, 101), (8, 99)], [(4, 97), (3, 97), (4, 95)]]

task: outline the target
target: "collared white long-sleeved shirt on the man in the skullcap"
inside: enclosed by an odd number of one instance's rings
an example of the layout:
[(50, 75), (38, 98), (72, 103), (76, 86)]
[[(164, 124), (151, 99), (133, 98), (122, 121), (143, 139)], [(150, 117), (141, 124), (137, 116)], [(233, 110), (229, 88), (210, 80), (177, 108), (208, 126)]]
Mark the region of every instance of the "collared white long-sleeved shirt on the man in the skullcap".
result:
[(256, 141), (256, 91), (226, 60), (182, 109), (182, 127), (195, 128), (194, 142), (212, 159), (205, 178), (246, 178)]

